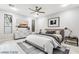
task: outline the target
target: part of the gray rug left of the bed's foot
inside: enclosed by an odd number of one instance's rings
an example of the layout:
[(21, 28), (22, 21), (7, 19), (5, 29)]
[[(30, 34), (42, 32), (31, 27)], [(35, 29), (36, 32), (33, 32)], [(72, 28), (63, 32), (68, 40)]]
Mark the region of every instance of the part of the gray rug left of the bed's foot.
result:
[(31, 46), (28, 43), (25, 42), (19, 42), (17, 43), (20, 48), (26, 53), (26, 54), (45, 54), (44, 52), (42, 52), (41, 50)]

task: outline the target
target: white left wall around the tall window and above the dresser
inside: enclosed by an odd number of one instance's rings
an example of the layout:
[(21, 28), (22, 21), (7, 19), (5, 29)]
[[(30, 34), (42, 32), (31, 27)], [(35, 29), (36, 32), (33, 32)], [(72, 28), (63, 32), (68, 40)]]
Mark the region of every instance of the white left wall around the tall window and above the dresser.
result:
[(19, 15), (19, 14), (14, 14), (6, 11), (0, 11), (0, 41), (5, 41), (5, 40), (11, 40), (13, 39), (13, 34), (4, 34), (4, 14), (9, 14), (12, 15), (12, 30), (13, 33), (16, 32), (17, 25), (19, 24), (20, 21), (26, 20), (29, 22), (29, 26), (31, 26), (31, 21), (28, 17)]

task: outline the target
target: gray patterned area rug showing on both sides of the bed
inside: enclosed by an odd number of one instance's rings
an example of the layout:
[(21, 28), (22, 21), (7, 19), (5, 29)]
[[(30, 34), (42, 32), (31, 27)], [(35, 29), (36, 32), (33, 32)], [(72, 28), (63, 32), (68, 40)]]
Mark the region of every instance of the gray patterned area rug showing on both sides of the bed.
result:
[[(25, 43), (25, 42), (18, 42), (19, 47), (26, 53), (26, 54), (45, 54), (45, 52), (41, 51), (40, 49), (35, 48), (34, 46)], [(66, 48), (58, 48), (53, 50), (53, 54), (68, 54), (69, 49)]]

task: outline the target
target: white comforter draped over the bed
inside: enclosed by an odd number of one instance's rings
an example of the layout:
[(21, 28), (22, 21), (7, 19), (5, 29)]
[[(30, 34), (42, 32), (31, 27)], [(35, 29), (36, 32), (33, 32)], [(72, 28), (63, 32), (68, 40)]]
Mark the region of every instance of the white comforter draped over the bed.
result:
[(45, 35), (32, 34), (27, 36), (26, 40), (44, 48), (44, 51), (49, 54), (53, 53), (53, 48), (60, 46), (54, 38)]

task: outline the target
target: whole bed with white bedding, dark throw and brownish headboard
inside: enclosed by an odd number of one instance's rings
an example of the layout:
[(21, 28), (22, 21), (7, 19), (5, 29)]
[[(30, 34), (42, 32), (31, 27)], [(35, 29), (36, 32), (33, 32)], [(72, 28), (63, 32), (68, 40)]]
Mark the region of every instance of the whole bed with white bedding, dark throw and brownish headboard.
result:
[(58, 48), (61, 46), (61, 42), (64, 39), (64, 29), (45, 30), (45, 34), (31, 34), (27, 36), (25, 42), (35, 46), (36, 48), (46, 53), (52, 54), (54, 48)]

